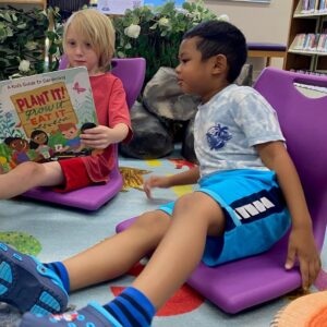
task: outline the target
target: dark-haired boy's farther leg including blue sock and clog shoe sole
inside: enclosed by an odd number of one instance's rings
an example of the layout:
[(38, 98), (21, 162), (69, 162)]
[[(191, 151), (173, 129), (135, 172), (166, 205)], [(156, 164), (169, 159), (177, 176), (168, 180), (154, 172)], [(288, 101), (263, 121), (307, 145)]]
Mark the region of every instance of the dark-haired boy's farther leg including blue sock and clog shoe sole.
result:
[[(0, 244), (0, 302), (13, 304), (21, 312), (27, 310), (34, 313), (62, 312), (66, 305), (65, 298), (70, 283), (71, 290), (75, 290), (128, 271), (157, 246), (169, 223), (170, 218), (164, 211), (146, 213), (124, 232), (59, 265), (58, 263), (43, 265)], [(59, 266), (60, 269), (55, 271), (52, 265)], [(63, 280), (62, 275), (69, 280)], [(45, 301), (47, 302), (50, 296), (41, 296), (43, 293), (51, 294), (60, 305), (49, 307)], [(65, 302), (61, 299), (65, 299)], [(35, 305), (38, 307), (34, 308)]]

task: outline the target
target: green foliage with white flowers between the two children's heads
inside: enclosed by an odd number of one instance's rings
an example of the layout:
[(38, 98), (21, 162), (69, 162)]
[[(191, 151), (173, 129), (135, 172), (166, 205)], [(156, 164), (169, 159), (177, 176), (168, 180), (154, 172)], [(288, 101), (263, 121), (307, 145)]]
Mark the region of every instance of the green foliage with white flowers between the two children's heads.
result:
[[(199, 22), (217, 19), (202, 1), (186, 2), (177, 9), (174, 2), (162, 7), (141, 7), (114, 17), (117, 56), (144, 57), (147, 69), (145, 83), (160, 66), (178, 64), (179, 46), (183, 34)], [(140, 28), (141, 27), (141, 28)]]

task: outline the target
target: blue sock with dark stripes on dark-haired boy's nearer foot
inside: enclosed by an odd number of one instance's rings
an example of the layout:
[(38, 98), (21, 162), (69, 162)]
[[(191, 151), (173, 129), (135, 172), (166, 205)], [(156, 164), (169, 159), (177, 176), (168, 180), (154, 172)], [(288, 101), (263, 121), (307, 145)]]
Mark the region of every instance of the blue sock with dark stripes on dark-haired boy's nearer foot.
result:
[(150, 301), (138, 290), (130, 287), (104, 307), (124, 327), (147, 327), (156, 313)]

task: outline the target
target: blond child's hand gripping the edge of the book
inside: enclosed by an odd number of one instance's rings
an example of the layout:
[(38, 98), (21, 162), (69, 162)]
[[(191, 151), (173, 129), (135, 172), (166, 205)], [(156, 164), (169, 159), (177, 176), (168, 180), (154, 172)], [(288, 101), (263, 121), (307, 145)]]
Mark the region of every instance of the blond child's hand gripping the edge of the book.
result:
[(111, 134), (112, 129), (98, 125), (96, 128), (85, 130), (80, 137), (85, 147), (104, 149), (113, 143)]

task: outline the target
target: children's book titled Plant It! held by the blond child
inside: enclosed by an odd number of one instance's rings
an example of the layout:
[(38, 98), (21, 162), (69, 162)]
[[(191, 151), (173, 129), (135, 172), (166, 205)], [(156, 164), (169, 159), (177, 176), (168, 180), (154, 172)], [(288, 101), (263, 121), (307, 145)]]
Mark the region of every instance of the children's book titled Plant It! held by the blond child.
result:
[(89, 155), (80, 134), (96, 124), (86, 68), (0, 81), (0, 173)]

